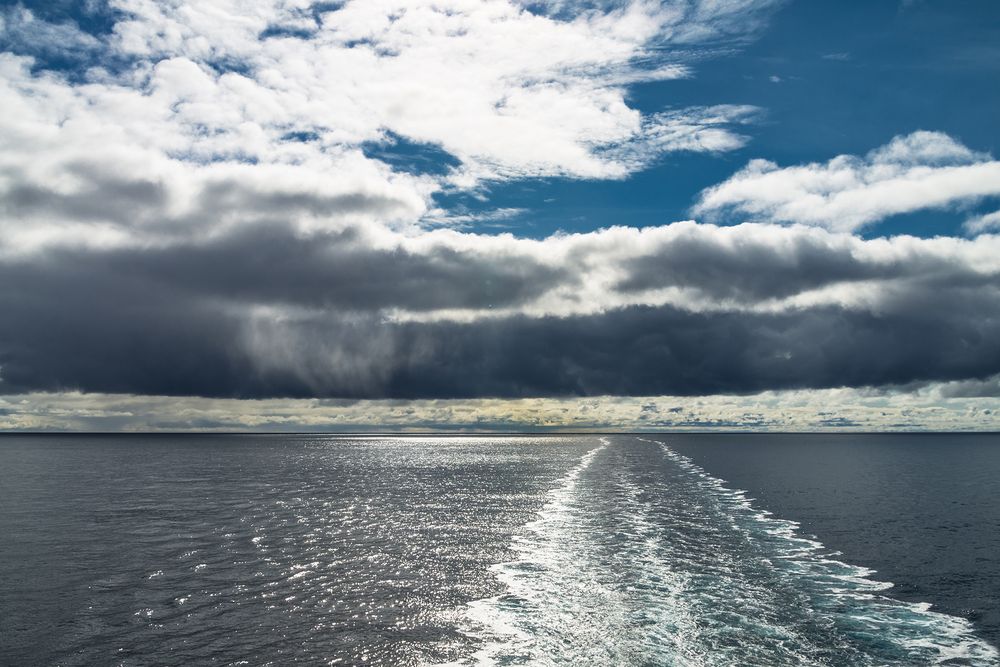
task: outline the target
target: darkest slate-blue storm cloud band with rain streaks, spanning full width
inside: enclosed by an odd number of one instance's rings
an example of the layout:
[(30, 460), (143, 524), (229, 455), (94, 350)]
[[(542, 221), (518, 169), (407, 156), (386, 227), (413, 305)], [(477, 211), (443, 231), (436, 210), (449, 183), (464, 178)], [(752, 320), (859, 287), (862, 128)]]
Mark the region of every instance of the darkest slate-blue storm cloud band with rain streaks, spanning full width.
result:
[[(273, 239), (253, 247), (267, 246), (287, 252)], [(233, 248), (226, 257), (236, 261), (242, 251)], [(1000, 372), (1000, 307), (995, 292), (981, 288), (917, 284), (877, 311), (825, 305), (693, 313), (635, 306), (585, 316), (393, 323), (377, 312), (238, 308), (220, 298), (233, 296), (226, 289), (193, 289), (213, 280), (225, 287), (227, 271), (220, 269), (217, 278), (204, 271), (228, 260), (209, 254), (168, 271), (155, 257), (143, 257), (132, 265), (114, 253), (102, 262), (65, 255), (6, 262), (0, 273), (3, 389), (217, 397), (699, 395)], [(322, 268), (315, 261), (316, 270)], [(395, 293), (405, 295), (405, 280), (420, 270), (435, 275), (411, 266), (386, 288), (400, 281)], [(273, 289), (294, 293), (294, 280), (277, 274)], [(257, 282), (267, 283), (269, 275)], [(325, 284), (322, 275), (317, 285)], [(456, 280), (461, 276), (447, 276)], [(351, 292), (346, 285), (342, 290)]]

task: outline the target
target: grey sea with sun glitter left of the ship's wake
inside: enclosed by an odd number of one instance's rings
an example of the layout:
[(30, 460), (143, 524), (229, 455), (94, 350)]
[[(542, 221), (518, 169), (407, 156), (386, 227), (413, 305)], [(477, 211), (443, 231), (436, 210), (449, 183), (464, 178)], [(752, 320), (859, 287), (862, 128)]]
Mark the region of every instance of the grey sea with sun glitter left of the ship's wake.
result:
[[(412, 665), (593, 445), (579, 438), (7, 440), (0, 664)], [(7, 500), (9, 499), (9, 500)]]

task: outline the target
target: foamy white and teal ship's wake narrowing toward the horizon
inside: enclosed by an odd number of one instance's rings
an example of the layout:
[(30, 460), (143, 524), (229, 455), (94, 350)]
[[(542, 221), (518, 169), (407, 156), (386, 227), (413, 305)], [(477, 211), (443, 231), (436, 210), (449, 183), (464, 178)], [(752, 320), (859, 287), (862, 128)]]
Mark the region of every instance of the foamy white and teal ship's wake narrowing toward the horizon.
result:
[(995, 665), (965, 619), (901, 602), (667, 444), (586, 454), (472, 604), (480, 665)]

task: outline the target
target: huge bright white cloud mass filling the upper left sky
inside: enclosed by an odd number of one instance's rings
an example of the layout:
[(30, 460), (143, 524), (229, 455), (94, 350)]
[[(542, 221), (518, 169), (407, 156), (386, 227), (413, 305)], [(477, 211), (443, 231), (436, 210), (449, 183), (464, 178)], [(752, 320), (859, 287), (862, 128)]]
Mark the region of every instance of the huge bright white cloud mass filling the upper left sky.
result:
[[(644, 115), (628, 86), (689, 76), (698, 35), (750, 34), (775, 4), (116, 0), (99, 35), (8, 9), (11, 39), (94, 55), (70, 76), (0, 54), (0, 253), (269, 216), (404, 227), (435, 194), (497, 179), (616, 179), (733, 150), (754, 108)], [(399, 168), (414, 147), (432, 157)]]

